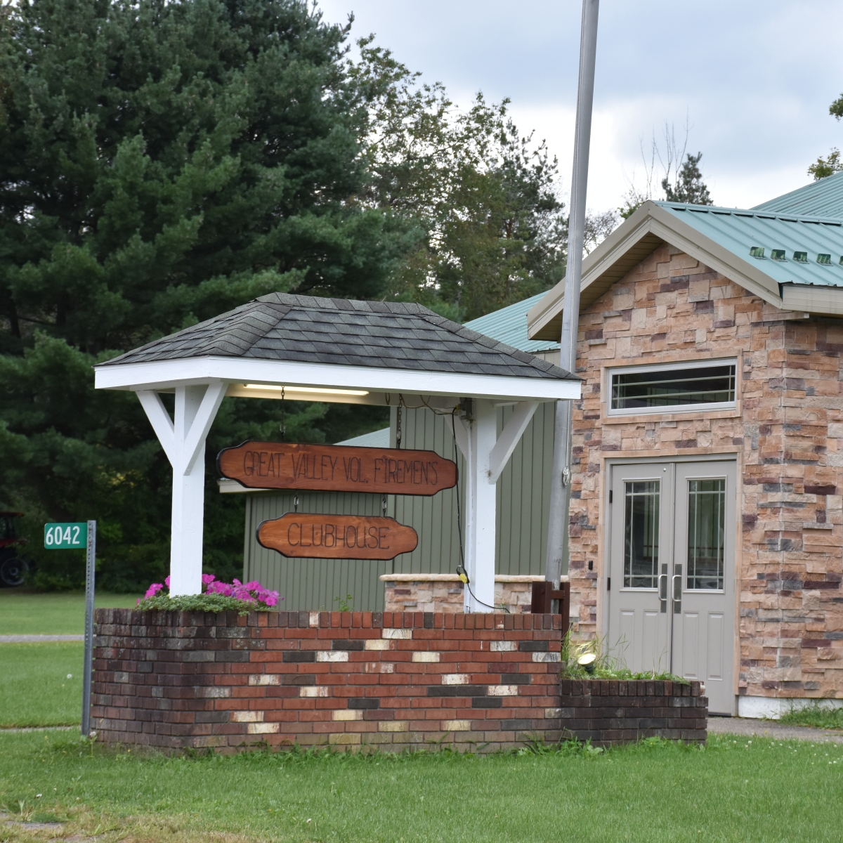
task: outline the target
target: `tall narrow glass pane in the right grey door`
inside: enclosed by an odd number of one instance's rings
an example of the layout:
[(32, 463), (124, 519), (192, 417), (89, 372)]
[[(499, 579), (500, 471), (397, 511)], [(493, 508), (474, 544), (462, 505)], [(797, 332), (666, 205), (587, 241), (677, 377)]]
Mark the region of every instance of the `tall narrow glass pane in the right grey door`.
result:
[(726, 481), (688, 481), (688, 588), (723, 587)]

